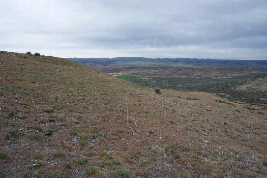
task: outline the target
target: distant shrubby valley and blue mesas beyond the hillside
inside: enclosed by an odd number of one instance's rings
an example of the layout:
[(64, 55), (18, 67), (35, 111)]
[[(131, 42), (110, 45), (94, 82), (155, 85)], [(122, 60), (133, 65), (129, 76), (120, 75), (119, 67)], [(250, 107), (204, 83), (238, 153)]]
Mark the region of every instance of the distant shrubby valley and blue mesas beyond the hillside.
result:
[(114, 76), (136, 76), (124, 78), (145, 87), (212, 93), (267, 108), (267, 61), (144, 57), (70, 60)]

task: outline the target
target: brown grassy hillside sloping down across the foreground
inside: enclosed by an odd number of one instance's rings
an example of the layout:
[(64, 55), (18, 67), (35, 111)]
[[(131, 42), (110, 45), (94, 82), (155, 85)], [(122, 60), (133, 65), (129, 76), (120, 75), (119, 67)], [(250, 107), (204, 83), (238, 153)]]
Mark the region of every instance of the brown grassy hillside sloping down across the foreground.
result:
[(0, 177), (267, 176), (266, 113), (51, 56), (0, 51), (0, 76)]

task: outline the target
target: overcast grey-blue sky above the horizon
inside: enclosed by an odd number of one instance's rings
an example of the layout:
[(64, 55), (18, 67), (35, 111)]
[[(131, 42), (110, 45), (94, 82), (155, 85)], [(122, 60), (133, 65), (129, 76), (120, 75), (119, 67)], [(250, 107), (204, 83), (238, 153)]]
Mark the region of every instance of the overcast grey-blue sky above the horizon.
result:
[(0, 0), (0, 50), (267, 60), (267, 1)]

